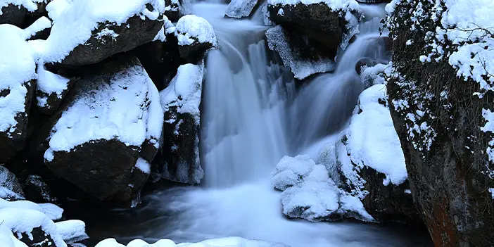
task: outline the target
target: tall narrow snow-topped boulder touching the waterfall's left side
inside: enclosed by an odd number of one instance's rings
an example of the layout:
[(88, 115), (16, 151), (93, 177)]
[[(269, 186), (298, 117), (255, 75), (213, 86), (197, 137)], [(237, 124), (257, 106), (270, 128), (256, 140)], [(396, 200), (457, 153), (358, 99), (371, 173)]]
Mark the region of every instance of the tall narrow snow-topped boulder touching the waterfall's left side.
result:
[(198, 184), (203, 178), (198, 137), (203, 77), (203, 64), (181, 65), (168, 87), (160, 91), (165, 121), (163, 145), (155, 163), (165, 179)]

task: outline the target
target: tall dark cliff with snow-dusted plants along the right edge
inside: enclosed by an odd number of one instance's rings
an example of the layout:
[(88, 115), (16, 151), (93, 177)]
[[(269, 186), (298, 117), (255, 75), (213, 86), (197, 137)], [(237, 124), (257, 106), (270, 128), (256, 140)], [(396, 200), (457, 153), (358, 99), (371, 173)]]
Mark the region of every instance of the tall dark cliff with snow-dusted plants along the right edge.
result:
[[(388, 103), (414, 203), (435, 245), (494, 246), (494, 164), (488, 155), (493, 144), (488, 109), (494, 107), (494, 95), (478, 80), (489, 86), (493, 77), (490, 68), (477, 79), (465, 76), (458, 72), (462, 63), (454, 63), (462, 45), (486, 42), (483, 49), (491, 49), (493, 35), (485, 29), (482, 37), (457, 42), (448, 33), (437, 33), (438, 27), (451, 31), (441, 16), (451, 15), (452, 8), (448, 1), (438, 3), (395, 1), (388, 8), (394, 38)], [(472, 50), (471, 59), (476, 56), (481, 53)], [(467, 70), (474, 71), (473, 62)]]

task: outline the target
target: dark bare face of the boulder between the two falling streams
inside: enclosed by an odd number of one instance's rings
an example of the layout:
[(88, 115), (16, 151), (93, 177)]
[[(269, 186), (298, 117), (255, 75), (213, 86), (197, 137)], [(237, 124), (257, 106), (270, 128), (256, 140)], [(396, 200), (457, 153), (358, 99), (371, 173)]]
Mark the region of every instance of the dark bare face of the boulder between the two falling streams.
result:
[(270, 19), (289, 34), (291, 45), (302, 49), (303, 56), (316, 60), (319, 56), (336, 56), (345, 20), (326, 4), (268, 5), (267, 11)]

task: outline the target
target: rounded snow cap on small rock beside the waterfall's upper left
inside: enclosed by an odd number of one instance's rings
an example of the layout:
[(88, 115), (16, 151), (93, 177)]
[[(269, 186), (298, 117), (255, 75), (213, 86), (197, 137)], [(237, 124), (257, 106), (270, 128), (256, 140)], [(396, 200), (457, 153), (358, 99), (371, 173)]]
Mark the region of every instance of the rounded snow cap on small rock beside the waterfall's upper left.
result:
[(184, 15), (175, 25), (175, 35), (180, 46), (191, 45), (194, 41), (210, 43), (217, 46), (217, 39), (213, 26), (202, 17), (196, 15)]

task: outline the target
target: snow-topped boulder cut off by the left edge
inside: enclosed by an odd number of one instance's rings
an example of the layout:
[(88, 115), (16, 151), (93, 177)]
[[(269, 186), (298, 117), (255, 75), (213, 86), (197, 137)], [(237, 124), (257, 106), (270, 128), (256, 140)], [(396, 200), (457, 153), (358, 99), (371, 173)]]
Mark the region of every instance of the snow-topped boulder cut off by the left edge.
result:
[(0, 163), (20, 151), (36, 87), (35, 52), (24, 30), (0, 25)]

